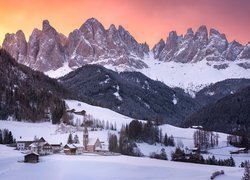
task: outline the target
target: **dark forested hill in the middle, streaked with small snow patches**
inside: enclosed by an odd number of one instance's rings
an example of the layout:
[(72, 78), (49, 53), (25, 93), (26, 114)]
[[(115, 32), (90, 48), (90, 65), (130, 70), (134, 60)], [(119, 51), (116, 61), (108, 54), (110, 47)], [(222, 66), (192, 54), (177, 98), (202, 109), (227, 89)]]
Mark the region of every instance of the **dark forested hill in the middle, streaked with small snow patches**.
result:
[(158, 119), (178, 125), (199, 105), (139, 72), (117, 73), (99, 65), (86, 65), (59, 79), (78, 99), (137, 119)]

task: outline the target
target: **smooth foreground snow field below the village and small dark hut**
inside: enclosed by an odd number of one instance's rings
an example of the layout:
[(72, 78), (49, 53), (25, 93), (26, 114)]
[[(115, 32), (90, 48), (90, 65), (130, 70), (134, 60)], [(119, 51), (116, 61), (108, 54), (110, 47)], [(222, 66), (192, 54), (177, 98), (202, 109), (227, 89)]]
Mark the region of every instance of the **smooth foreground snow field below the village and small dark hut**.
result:
[[(50, 155), (37, 164), (17, 162), (23, 155), (0, 145), (0, 178), (16, 179), (197, 179), (207, 180), (214, 171), (224, 170), (221, 180), (239, 180), (243, 168), (161, 161), (128, 156)], [(9, 156), (11, 155), (11, 156)], [(197, 170), (199, 169), (199, 170)]]

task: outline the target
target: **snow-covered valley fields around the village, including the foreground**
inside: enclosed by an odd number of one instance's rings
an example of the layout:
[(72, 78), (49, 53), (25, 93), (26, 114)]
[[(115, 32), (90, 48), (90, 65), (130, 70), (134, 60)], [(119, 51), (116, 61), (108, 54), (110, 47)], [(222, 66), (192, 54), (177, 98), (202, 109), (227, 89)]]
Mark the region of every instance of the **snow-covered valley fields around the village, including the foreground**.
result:
[[(67, 100), (69, 109), (76, 111), (85, 110), (87, 114), (96, 119), (109, 121), (117, 124), (119, 129), (122, 124), (129, 123), (132, 118), (115, 113), (111, 110), (91, 106), (82, 102)], [(78, 115), (74, 119), (81, 118)], [(69, 132), (58, 132), (58, 125), (50, 122), (27, 123), (16, 121), (0, 121), (0, 128), (7, 128), (12, 131), (15, 138), (22, 136), (23, 139), (33, 140), (34, 136), (44, 137), (49, 143), (66, 144)], [(176, 144), (182, 144), (183, 148), (193, 147), (193, 132), (195, 129), (178, 128), (171, 125), (160, 126), (163, 134), (173, 135)], [(75, 132), (75, 128), (70, 129), (77, 134), (82, 142), (83, 132)], [(90, 138), (99, 138), (107, 143), (109, 130), (89, 131)], [(112, 133), (118, 134), (117, 131)], [(219, 147), (209, 150), (207, 156), (215, 155), (216, 158), (229, 158), (230, 150), (234, 147), (226, 146), (226, 134), (219, 133)], [(152, 152), (160, 152), (165, 148), (168, 158), (174, 147), (164, 147), (160, 144), (149, 145), (138, 143), (138, 147), (145, 156)], [(233, 155), (236, 165), (246, 159), (250, 159), (250, 154)], [(243, 169), (221, 166), (210, 166), (190, 163), (171, 162), (155, 160), (147, 157), (135, 158), (128, 156), (99, 156), (83, 154), (80, 156), (66, 156), (56, 154), (41, 157), (38, 164), (26, 164), (18, 161), (23, 160), (23, 154), (13, 148), (0, 146), (0, 179), (209, 179), (211, 174), (217, 170), (224, 170), (225, 175), (218, 179), (241, 179)]]

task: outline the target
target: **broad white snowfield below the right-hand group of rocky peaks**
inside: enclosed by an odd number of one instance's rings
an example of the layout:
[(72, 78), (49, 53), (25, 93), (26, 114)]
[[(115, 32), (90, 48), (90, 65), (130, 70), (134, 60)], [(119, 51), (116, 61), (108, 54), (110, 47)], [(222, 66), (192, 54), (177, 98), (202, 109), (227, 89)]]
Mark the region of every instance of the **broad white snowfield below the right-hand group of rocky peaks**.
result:
[(161, 62), (154, 59), (152, 52), (144, 59), (149, 68), (139, 70), (141, 73), (170, 87), (185, 89), (191, 95), (211, 83), (229, 78), (250, 78), (249, 70), (239, 67), (235, 61), (228, 62), (228, 68), (217, 70), (213, 65), (221, 62)]

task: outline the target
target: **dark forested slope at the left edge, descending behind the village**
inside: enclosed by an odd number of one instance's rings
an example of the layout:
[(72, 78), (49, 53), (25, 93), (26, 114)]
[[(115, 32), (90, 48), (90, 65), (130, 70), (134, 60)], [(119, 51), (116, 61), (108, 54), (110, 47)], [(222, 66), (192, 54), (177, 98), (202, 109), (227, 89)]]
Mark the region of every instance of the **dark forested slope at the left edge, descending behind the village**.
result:
[(59, 122), (67, 91), (59, 83), (18, 64), (0, 49), (0, 119)]

